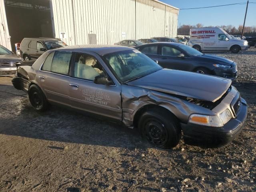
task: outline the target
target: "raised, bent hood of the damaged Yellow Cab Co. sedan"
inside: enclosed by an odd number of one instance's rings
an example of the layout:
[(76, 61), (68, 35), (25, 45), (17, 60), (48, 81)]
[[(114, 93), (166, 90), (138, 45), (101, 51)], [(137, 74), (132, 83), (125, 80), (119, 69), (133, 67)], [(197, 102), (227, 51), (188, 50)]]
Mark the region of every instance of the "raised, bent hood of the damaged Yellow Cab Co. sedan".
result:
[(231, 82), (229, 79), (216, 76), (162, 69), (127, 84), (167, 94), (215, 102), (228, 90)]

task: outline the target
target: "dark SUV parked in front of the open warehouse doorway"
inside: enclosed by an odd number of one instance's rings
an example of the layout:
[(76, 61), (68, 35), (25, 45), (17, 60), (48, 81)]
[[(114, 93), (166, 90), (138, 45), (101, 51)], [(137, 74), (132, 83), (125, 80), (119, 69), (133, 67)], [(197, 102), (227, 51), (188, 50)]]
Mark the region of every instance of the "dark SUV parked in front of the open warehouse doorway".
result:
[(20, 55), (25, 61), (37, 59), (46, 50), (67, 46), (63, 41), (54, 38), (24, 38), (20, 44)]

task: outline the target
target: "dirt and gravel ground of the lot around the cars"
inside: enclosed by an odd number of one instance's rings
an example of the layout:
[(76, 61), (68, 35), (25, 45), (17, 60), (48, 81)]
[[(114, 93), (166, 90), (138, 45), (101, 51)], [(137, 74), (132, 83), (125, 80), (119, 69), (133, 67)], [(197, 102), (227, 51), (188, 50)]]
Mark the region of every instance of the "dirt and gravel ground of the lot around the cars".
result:
[(238, 63), (249, 111), (238, 138), (217, 149), (160, 150), (136, 130), (58, 107), (38, 113), (0, 77), (0, 191), (256, 191), (256, 49), (218, 55)]

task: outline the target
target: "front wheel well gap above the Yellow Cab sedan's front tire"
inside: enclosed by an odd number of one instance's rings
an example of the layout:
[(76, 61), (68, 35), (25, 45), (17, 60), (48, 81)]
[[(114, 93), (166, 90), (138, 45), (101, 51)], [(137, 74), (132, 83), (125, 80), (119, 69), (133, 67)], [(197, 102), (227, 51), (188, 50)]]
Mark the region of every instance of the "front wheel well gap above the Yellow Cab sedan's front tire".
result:
[[(148, 111), (148, 110), (161, 110), (161, 111), (164, 111), (166, 114), (170, 114), (174, 117), (176, 117), (172, 112), (170, 112), (168, 109), (162, 107), (162, 106), (159, 106), (159, 105), (155, 105), (155, 104), (148, 104), (148, 105), (144, 105), (142, 106), (137, 112), (136, 114), (134, 115), (134, 118), (133, 118), (133, 125), (134, 127), (138, 127), (138, 122), (140, 120), (140, 116)], [(176, 119), (178, 120), (178, 118), (176, 117)]]

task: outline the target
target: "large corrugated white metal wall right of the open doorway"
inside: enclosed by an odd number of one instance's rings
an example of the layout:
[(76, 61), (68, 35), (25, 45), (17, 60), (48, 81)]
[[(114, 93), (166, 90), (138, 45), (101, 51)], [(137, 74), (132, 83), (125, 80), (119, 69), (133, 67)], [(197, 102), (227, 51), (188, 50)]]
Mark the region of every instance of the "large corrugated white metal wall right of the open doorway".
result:
[[(140, 0), (141, 1), (141, 0)], [(154, 36), (176, 37), (178, 10), (152, 0), (51, 0), (56, 38), (68, 45), (88, 44), (96, 34), (97, 44)], [(152, 6), (148, 2), (158, 6)], [(175, 10), (170, 11), (170, 10)]]

